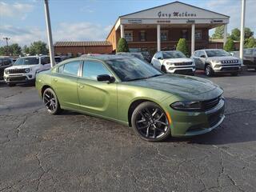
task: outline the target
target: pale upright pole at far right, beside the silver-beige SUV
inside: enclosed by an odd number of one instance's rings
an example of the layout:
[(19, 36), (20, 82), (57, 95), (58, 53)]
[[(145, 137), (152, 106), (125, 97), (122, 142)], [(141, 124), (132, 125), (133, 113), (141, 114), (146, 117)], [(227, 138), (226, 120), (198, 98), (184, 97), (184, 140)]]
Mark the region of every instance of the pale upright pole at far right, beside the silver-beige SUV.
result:
[(245, 39), (245, 17), (246, 17), (246, 0), (242, 0), (242, 9), (241, 9), (241, 33), (240, 33), (240, 53), (239, 57), (241, 58), (243, 65), (243, 43)]

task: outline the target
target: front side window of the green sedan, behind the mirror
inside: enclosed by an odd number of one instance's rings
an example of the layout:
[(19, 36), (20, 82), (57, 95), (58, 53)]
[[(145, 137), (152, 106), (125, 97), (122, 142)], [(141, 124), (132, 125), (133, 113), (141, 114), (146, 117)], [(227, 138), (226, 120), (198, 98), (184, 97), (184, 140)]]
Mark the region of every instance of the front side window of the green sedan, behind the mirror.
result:
[(100, 74), (109, 74), (112, 76), (110, 71), (101, 62), (85, 61), (83, 63), (82, 77), (97, 80), (97, 76)]

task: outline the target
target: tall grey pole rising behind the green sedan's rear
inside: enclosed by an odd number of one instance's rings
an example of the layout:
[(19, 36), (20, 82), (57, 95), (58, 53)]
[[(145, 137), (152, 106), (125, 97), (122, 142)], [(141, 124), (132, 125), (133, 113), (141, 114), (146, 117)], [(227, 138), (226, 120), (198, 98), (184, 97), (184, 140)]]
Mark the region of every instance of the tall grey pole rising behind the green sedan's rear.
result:
[(53, 37), (52, 37), (52, 34), (51, 34), (50, 13), (49, 13), (48, 0), (45, 0), (45, 14), (46, 14), (48, 46), (49, 46), (49, 53), (50, 53), (50, 66), (53, 67), (55, 65), (54, 46), (53, 46)]

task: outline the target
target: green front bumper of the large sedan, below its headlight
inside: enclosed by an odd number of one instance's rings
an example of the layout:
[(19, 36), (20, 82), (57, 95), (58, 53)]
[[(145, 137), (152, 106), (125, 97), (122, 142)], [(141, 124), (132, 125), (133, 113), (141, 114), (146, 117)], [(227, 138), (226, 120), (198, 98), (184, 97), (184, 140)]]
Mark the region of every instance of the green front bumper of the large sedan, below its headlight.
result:
[(224, 120), (225, 101), (204, 112), (186, 112), (170, 109), (171, 134), (173, 137), (190, 137), (206, 134), (217, 128)]

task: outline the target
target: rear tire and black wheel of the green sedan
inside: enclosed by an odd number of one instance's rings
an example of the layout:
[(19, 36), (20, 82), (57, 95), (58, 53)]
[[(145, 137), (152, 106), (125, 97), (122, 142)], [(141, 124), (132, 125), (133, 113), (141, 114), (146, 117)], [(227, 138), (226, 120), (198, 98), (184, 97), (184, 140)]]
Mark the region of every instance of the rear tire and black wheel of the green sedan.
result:
[(45, 103), (49, 114), (59, 114), (61, 112), (57, 95), (51, 88), (47, 88), (43, 92), (42, 101)]

